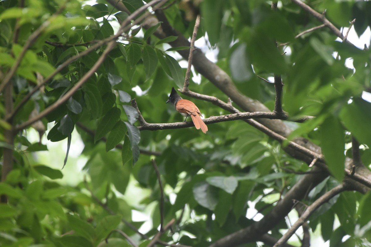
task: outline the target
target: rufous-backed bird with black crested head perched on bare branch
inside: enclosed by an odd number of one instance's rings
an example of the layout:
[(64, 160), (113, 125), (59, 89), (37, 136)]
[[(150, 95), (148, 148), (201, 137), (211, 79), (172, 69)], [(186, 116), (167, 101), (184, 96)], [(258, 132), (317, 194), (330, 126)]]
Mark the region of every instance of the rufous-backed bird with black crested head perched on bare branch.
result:
[(169, 102), (174, 105), (175, 110), (179, 111), (179, 113), (185, 117), (184, 122), (187, 120), (188, 116), (191, 116), (197, 130), (201, 128), (202, 132), (206, 134), (207, 126), (200, 117), (200, 110), (198, 110), (197, 106), (192, 101), (182, 99), (177, 91), (175, 91), (174, 87), (171, 89), (169, 99), (166, 101), (166, 103)]

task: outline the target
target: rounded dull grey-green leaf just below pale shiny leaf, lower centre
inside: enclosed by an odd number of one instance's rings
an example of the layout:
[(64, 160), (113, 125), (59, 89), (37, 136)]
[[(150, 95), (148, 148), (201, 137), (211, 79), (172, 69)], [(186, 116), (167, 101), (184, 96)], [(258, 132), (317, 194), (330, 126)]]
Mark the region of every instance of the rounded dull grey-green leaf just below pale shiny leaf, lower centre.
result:
[(193, 186), (193, 196), (197, 203), (203, 207), (214, 210), (218, 203), (218, 191), (206, 182), (198, 182)]

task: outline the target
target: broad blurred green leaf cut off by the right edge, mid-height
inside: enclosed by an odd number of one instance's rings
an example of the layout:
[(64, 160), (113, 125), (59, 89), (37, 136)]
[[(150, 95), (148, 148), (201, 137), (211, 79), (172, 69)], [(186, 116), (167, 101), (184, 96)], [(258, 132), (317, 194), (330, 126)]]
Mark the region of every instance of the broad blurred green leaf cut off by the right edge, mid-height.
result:
[(371, 103), (354, 98), (352, 103), (345, 105), (340, 111), (340, 118), (349, 131), (360, 143), (371, 147)]

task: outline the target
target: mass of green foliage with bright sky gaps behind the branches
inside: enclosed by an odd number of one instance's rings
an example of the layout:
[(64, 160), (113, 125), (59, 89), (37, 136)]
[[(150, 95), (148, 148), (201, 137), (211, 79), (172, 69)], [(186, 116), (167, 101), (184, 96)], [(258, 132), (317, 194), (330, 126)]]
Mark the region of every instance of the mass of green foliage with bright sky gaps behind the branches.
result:
[[(242, 94), (273, 110), (274, 86), (256, 75), (272, 80), (274, 74), (281, 74), (283, 109), (290, 116), (316, 116), (303, 124), (287, 122), (295, 130), (291, 137), (303, 136), (322, 147), (334, 175), (303, 203), (311, 204), (341, 182), (345, 155), (351, 156), (350, 133), (363, 144), (365, 166), (371, 164), (371, 106), (361, 97), (371, 89), (369, 50), (341, 43), (326, 28), (295, 38), (321, 23), (289, 0), (279, 1), (277, 11), (270, 9), (269, 1), (185, 2), (165, 4), (169, 23), (190, 38), (192, 14), (200, 13), (196, 44), (231, 76)], [(141, 0), (122, 3), (131, 12), (144, 4)], [(370, 32), (370, 1), (310, 4), (319, 13), (326, 10), (337, 27), (348, 27), (356, 18), (357, 35)], [(112, 36), (127, 16), (103, 0), (1, 0), (2, 74), (12, 67), (32, 33), (43, 28), (13, 77), (14, 106), (40, 83), (39, 77), (48, 77), (67, 59)], [(8, 204), (0, 204), (0, 246), (131, 246), (120, 233), (110, 234), (116, 229), (138, 246), (147, 246), (146, 238), (157, 233), (161, 220), (160, 187), (152, 159), (164, 185), (164, 223), (176, 219), (173, 233), (163, 234), (161, 240), (208, 246), (259, 220), (302, 172), (310, 170), (286, 154), (277, 141), (243, 121), (209, 125), (207, 134), (194, 128), (139, 133), (138, 114), (130, 106), (134, 98), (148, 123), (183, 121), (165, 101), (171, 87), (183, 87), (185, 63), (167, 44), (176, 37), (160, 40), (153, 35), (158, 27), (134, 26), (123, 33), (81, 89), (39, 122), (46, 130), (41, 143), (32, 128), (17, 133), (13, 169), (0, 183), (0, 194), (9, 198)], [(14, 126), (58, 101), (104, 49), (64, 67), (19, 109)], [(339, 60), (334, 59), (336, 54)], [(352, 61), (352, 68), (346, 59)], [(197, 72), (190, 90), (223, 101), (228, 98)], [(9, 125), (4, 120), (4, 93), (0, 100), (2, 157), (7, 147), (3, 133)], [(205, 117), (228, 114), (210, 102), (191, 100)], [(70, 155), (60, 170), (66, 147)], [(309, 219), (311, 234), (317, 229), (317, 237), (329, 240), (327, 246), (369, 246), (370, 198), (353, 191), (333, 198)], [(289, 227), (281, 222), (270, 235), (278, 239)], [(139, 228), (146, 236), (133, 230)], [(296, 237), (289, 243), (301, 245)]]

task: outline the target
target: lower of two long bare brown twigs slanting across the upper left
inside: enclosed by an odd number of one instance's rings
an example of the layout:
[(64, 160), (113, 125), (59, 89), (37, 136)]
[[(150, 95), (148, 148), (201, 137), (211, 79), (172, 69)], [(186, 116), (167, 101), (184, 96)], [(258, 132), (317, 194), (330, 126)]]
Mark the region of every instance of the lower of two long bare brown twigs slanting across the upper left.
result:
[[(157, 4), (155, 8), (159, 8), (164, 4), (167, 0), (152, 0), (151, 2), (145, 4), (144, 6), (140, 7), (139, 9), (135, 10), (134, 13), (132, 13), (120, 26), (117, 33), (112, 37), (119, 37), (122, 32), (127, 30), (129, 27), (125, 28), (129, 20), (134, 19), (136, 16), (138, 16), (142, 11), (145, 11), (148, 7)], [(146, 15), (143, 15), (141, 17), (145, 17)], [(139, 21), (139, 19), (137, 20)], [(105, 57), (108, 55), (109, 51), (115, 46), (115, 40), (114, 38), (111, 38), (109, 43), (107, 44), (106, 49), (103, 51), (102, 55), (99, 57), (99, 59), (95, 62), (93, 67), (78, 81), (78, 83), (75, 84), (75, 86), (72, 87), (65, 95), (63, 95), (58, 101), (56, 101), (51, 106), (47, 107), (45, 110), (43, 110), (39, 115), (35, 116), (34, 118), (26, 121), (23, 124), (20, 124), (19, 126), (15, 127), (14, 131), (22, 130), (23, 128), (26, 128), (30, 126), (31, 124), (35, 123), (37, 120), (42, 119), (47, 114), (55, 110), (57, 107), (59, 107), (61, 104), (63, 104), (65, 101), (67, 101), (84, 83), (89, 79), (89, 77), (92, 76), (92, 74), (95, 73), (95, 71), (98, 69), (99, 66), (103, 63)]]

